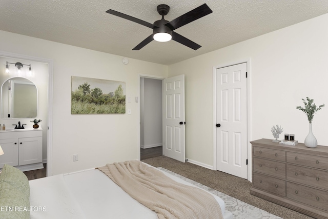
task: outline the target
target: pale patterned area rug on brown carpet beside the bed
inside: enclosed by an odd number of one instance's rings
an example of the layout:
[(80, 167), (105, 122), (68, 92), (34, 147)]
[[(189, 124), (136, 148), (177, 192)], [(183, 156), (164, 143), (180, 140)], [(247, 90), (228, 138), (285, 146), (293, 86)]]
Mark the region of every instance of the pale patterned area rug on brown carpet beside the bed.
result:
[(190, 180), (189, 178), (181, 176), (181, 175), (174, 173), (170, 170), (167, 170), (165, 168), (158, 167), (158, 169), (165, 171), (167, 173), (170, 173), (172, 175), (175, 175), (175, 176), (181, 178), (181, 180), (187, 181), (199, 188), (202, 188), (208, 192), (211, 192), (214, 195), (219, 196), (224, 201), (224, 203), (226, 203), (226, 210), (230, 211), (233, 214), (234, 219), (279, 219), (279, 218), (281, 218), (281, 217), (278, 217), (267, 211), (264, 211), (262, 209), (254, 207), (252, 205), (244, 203), (244, 202), (238, 200), (237, 198), (231, 197), (222, 192), (216, 191), (210, 187), (204, 186), (200, 183)]

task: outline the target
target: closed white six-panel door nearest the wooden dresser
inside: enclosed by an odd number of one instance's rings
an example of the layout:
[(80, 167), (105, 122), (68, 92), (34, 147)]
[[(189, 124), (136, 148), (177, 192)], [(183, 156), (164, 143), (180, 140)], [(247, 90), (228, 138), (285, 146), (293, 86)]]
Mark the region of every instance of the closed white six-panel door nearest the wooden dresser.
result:
[(216, 69), (217, 170), (247, 178), (247, 64)]

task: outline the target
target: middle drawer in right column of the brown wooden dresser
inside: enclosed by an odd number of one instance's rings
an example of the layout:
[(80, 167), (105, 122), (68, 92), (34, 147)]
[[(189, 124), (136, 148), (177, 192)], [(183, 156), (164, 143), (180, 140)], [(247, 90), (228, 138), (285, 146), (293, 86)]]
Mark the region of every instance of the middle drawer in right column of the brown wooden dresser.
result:
[(287, 164), (287, 180), (328, 190), (328, 172)]

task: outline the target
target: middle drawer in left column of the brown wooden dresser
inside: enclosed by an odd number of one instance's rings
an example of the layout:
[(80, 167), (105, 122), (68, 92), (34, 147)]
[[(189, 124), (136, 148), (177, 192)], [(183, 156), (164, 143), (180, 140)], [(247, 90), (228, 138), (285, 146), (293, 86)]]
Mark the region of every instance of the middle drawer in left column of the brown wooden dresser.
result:
[(254, 157), (254, 171), (268, 175), (286, 178), (285, 163)]

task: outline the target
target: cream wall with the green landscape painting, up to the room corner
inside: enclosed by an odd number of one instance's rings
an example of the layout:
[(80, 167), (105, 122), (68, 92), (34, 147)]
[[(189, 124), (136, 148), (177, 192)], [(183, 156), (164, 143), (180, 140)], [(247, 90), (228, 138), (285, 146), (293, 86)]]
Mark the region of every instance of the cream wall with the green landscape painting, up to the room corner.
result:
[[(0, 31), (0, 48), (54, 61), (52, 174), (139, 157), (138, 104), (126, 104), (131, 115), (71, 115), (71, 76), (126, 82), (126, 96), (134, 99), (139, 96), (138, 75), (166, 77), (167, 66), (136, 59), (124, 65), (121, 56), (4, 31)], [(78, 162), (73, 162), (73, 154), (78, 154)]]

